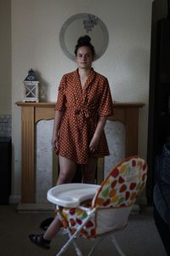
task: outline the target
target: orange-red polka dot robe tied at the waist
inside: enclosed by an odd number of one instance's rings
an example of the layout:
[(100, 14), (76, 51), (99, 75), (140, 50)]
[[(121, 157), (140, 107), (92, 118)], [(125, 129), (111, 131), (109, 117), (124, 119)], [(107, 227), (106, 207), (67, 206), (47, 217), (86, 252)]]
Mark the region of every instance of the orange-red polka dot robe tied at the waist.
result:
[(105, 131), (99, 138), (94, 154), (89, 143), (94, 136), (99, 116), (113, 114), (113, 102), (108, 80), (94, 69), (86, 83), (81, 85), (78, 69), (63, 76), (55, 110), (65, 110), (59, 129), (59, 148), (56, 154), (78, 164), (88, 163), (89, 157), (109, 155)]

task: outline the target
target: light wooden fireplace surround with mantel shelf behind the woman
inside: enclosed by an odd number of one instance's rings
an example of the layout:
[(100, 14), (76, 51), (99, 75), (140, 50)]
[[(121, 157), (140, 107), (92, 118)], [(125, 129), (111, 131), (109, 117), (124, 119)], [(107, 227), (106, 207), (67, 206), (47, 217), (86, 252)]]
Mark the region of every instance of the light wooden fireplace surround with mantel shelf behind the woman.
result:
[[(35, 125), (40, 120), (54, 119), (54, 102), (16, 102), (21, 108), (21, 204), (36, 203)], [(111, 121), (125, 125), (125, 157), (138, 154), (139, 108), (143, 102), (114, 102)], [(99, 170), (104, 168), (99, 160)], [(99, 172), (102, 173), (102, 172)], [(99, 175), (101, 183), (103, 175)]]

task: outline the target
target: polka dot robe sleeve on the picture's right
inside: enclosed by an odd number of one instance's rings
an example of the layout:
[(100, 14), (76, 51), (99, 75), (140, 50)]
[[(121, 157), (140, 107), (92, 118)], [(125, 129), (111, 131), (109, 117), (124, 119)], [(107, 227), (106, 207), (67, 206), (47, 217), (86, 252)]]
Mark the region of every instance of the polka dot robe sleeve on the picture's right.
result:
[(99, 102), (99, 116), (111, 116), (114, 114), (113, 101), (108, 80), (105, 79), (104, 87)]

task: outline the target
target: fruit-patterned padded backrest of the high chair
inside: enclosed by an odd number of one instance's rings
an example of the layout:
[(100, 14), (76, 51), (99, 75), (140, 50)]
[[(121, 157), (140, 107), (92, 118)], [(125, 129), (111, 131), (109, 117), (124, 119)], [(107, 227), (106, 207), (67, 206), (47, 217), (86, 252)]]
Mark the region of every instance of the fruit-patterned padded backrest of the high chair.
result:
[(93, 207), (125, 207), (133, 205), (146, 183), (146, 162), (139, 157), (122, 160), (101, 184)]

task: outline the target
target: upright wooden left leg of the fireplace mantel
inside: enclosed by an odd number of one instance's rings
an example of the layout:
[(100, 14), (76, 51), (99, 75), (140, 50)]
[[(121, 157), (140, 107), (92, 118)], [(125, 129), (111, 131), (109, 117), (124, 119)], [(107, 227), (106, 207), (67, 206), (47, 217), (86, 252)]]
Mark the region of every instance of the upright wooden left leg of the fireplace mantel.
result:
[(22, 108), (21, 125), (21, 203), (34, 203), (34, 107)]

